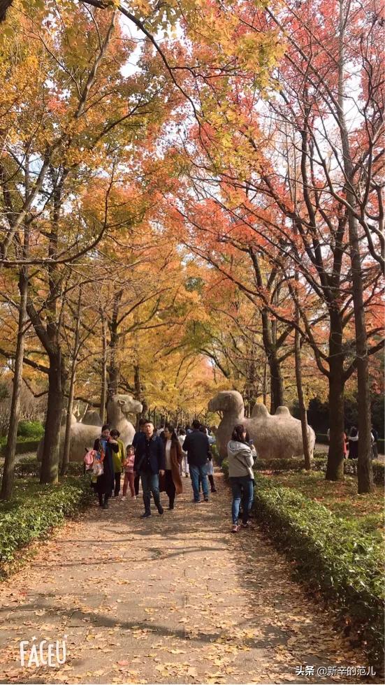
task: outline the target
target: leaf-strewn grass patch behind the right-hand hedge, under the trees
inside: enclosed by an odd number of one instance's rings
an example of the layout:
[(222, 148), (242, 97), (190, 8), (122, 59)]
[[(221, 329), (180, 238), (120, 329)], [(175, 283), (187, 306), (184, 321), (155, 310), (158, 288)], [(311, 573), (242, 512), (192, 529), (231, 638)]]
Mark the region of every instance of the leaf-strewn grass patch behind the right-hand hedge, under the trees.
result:
[(273, 482), (299, 491), (306, 497), (327, 507), (342, 519), (354, 519), (358, 530), (374, 533), (381, 538), (384, 527), (384, 487), (376, 485), (375, 492), (357, 494), (357, 479), (345, 476), (343, 481), (332, 482), (319, 471), (282, 471), (270, 475)]

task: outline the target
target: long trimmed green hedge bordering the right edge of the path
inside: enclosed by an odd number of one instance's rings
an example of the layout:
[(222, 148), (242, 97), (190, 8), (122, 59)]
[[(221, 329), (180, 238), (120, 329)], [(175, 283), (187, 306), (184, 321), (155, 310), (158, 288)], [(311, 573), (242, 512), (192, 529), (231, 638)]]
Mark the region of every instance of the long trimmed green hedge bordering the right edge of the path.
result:
[[(226, 461), (222, 463), (228, 475)], [(255, 474), (254, 510), (261, 528), (296, 562), (296, 574), (337, 607), (350, 636), (363, 644), (370, 662), (384, 656), (382, 547), (300, 492)]]

